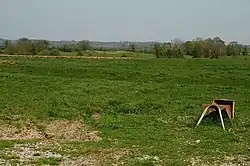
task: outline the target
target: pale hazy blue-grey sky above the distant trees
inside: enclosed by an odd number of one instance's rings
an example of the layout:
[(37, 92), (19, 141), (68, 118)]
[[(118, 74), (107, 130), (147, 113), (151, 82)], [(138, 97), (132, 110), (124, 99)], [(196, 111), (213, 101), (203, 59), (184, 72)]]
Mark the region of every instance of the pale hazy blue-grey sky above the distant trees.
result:
[(250, 44), (250, 0), (0, 0), (0, 37)]

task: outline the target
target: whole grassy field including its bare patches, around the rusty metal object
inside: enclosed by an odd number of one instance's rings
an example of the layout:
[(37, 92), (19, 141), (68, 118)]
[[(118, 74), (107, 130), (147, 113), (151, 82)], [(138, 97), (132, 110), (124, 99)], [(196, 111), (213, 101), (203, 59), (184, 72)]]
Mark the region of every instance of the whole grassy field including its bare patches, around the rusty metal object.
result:
[[(1, 57), (0, 85), (0, 165), (250, 165), (247, 58)], [(236, 118), (194, 129), (214, 98)]]

